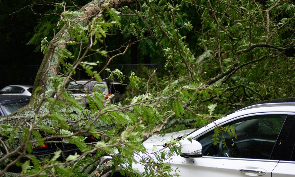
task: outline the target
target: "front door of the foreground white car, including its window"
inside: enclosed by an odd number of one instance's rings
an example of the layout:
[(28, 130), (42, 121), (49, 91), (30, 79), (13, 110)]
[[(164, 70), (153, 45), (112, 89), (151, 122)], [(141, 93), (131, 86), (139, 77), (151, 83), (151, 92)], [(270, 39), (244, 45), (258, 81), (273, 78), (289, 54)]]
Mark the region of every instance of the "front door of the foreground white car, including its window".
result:
[(271, 177), (279, 162), (271, 159), (272, 150), (282, 144), (282, 131), (289, 131), (292, 120), (282, 113), (232, 119), (194, 138), (202, 144), (203, 157), (178, 156), (171, 165), (181, 176)]

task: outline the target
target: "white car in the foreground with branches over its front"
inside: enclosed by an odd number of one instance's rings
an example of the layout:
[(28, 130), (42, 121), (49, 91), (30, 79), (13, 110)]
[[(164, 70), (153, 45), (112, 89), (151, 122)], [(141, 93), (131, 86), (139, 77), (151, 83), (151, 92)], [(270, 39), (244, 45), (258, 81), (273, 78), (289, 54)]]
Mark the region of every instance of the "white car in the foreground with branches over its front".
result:
[[(295, 176), (294, 115), (295, 97), (242, 107), (204, 127), (186, 130), (191, 131), (187, 137), (192, 140), (180, 140), (181, 155), (170, 157), (169, 163), (180, 176)], [(215, 134), (217, 127), (231, 127), (234, 133)], [(178, 136), (184, 133), (178, 132)], [(163, 145), (169, 137), (171, 134), (150, 137), (144, 145), (149, 152), (156, 151), (154, 145)], [(145, 170), (139, 163), (132, 167), (139, 173)]]

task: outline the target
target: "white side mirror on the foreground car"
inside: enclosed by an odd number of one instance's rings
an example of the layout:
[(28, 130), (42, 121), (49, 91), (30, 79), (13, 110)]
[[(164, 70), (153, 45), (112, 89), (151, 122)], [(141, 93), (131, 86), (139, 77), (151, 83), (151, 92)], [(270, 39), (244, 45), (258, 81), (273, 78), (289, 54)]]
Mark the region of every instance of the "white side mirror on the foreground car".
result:
[(198, 141), (185, 139), (181, 144), (181, 157), (203, 157), (202, 145)]

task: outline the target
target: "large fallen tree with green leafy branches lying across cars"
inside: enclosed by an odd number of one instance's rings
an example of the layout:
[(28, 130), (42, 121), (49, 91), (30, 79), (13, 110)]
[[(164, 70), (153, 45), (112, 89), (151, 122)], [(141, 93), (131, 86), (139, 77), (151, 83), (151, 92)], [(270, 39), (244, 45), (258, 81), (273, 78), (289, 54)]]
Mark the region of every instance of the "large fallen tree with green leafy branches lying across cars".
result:
[[(294, 96), (294, 56), (287, 56), (288, 52), (294, 55), (294, 4), (241, 3), (92, 1), (79, 11), (63, 11), (59, 24), (63, 27), (51, 42), (46, 38), (41, 42), (45, 55), (30, 104), (0, 118), (0, 163), (4, 166), (0, 175), (15, 164), (29, 176), (101, 175), (134, 161), (134, 151), (144, 152), (141, 142), (155, 133), (172, 127), (180, 130), (181, 124), (201, 126), (249, 102)], [(278, 14), (287, 18), (280, 19)], [(108, 33), (120, 31), (126, 37), (117, 35), (125, 41), (109, 49), (117, 44), (107, 40)], [(78, 50), (69, 51), (69, 45), (78, 45)], [(165, 61), (169, 77), (158, 77), (153, 70), (140, 81), (134, 73), (125, 76), (109, 69), (115, 58), (130, 55), (132, 45), (142, 50), (156, 48), (145, 55)], [(104, 61), (101, 71), (92, 71), (99, 62), (87, 61), (93, 55)], [(100, 81), (105, 70), (109, 79), (128, 78), (130, 98), (114, 105), (97, 90), (87, 96), (90, 109), (86, 109), (67, 89), (69, 81), (75, 81), (72, 76), (77, 67), (89, 74), (89, 81)], [(87, 143), (84, 137), (89, 134), (104, 139)], [(66, 162), (57, 160), (60, 154), (54, 160), (31, 155), (44, 143), (60, 143), (54, 138), (76, 144), (81, 155)], [(113, 156), (113, 165), (95, 170), (104, 154)], [(27, 163), (19, 163), (23, 156), (29, 159)], [(169, 170), (159, 170), (156, 163), (146, 165), (154, 166), (152, 176), (169, 175)], [(133, 172), (131, 167), (126, 171)]]

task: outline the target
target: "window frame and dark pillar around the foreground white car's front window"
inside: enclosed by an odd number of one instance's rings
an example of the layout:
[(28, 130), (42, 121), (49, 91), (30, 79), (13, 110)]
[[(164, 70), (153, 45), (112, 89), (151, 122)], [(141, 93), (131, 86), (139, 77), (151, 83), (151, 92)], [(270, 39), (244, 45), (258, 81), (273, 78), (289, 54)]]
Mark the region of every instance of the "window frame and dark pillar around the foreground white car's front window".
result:
[[(273, 147), (273, 150), (272, 150), (272, 153), (271, 153), (271, 158), (270, 159), (251, 159), (251, 160), (258, 160), (258, 161), (265, 161), (265, 160), (280, 160), (281, 159), (281, 153), (278, 152), (278, 150), (282, 149), (283, 147), (285, 146), (280, 146), (279, 142), (278, 142), (278, 139), (282, 139), (282, 140), (287, 140), (287, 136), (288, 136), (288, 133), (291, 129), (291, 124), (293, 125), (293, 123), (295, 124), (295, 120), (294, 120), (294, 117), (295, 117), (295, 113), (290, 113), (290, 112), (260, 112), (260, 113), (254, 113), (254, 114), (244, 114), (244, 115), (241, 115), (241, 116), (237, 116), (237, 117), (233, 117), (232, 119), (229, 119), (229, 120), (225, 120), (224, 122), (220, 122), (219, 124), (217, 124), (216, 126), (222, 126), (224, 124), (228, 124), (230, 122), (233, 122), (235, 120), (238, 120), (238, 119), (242, 119), (242, 118), (245, 118), (245, 117), (252, 117), (252, 116), (257, 116), (257, 115), (268, 115), (268, 114), (283, 114), (283, 115), (286, 115), (286, 119), (285, 121), (283, 122), (283, 125), (282, 125), (282, 128), (278, 134), (278, 137), (277, 137), (277, 140), (275, 142), (275, 145)], [(294, 120), (294, 121), (293, 121)], [(290, 123), (291, 122), (291, 123)], [(205, 130), (204, 132), (200, 133), (199, 135), (196, 135), (193, 139), (194, 140), (197, 140), (199, 137), (205, 135), (206, 133), (214, 130), (214, 128), (216, 126), (213, 126), (207, 130)], [(294, 125), (295, 126), (295, 125)], [(287, 134), (286, 134), (287, 132)], [(295, 141), (295, 140), (294, 140)], [(287, 141), (285, 141), (287, 143)], [(286, 143), (284, 143), (284, 145), (286, 145)], [(294, 142), (294, 146), (295, 146), (295, 142)], [(295, 151), (294, 151), (295, 153)], [(218, 159), (242, 159), (242, 158), (236, 158), (236, 157), (217, 157), (217, 156), (203, 156), (204, 158), (218, 158)], [(290, 156), (291, 158), (291, 156)], [(243, 159), (250, 159), (250, 158), (243, 158)]]

